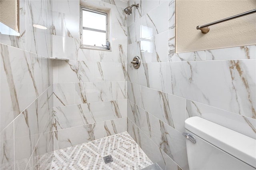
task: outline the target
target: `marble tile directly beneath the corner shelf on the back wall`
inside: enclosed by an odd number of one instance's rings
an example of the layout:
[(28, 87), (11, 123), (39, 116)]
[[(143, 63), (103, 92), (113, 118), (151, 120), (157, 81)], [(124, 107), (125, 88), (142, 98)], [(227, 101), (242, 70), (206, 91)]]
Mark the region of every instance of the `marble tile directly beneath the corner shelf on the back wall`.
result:
[(92, 61), (58, 61), (58, 83), (95, 81), (96, 67), (97, 63)]

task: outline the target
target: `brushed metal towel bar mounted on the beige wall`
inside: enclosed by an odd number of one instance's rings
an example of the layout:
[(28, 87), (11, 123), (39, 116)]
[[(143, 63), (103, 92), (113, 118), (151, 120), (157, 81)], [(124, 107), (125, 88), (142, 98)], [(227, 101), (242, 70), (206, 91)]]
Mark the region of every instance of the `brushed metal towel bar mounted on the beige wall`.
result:
[(197, 30), (201, 30), (201, 32), (203, 34), (206, 34), (210, 31), (210, 27), (209, 26), (212, 26), (212, 25), (215, 25), (215, 24), (219, 24), (221, 22), (225, 22), (225, 21), (228, 21), (228, 20), (233, 20), (235, 18), (239, 18), (241, 16), (246, 16), (246, 15), (249, 15), (249, 14), (252, 14), (252, 13), (255, 13), (256, 12), (256, 9), (254, 10), (250, 10), (250, 11), (247, 11), (247, 12), (244, 12), (244, 13), (241, 13), (241, 14), (237, 14), (237, 15), (234, 15), (234, 16), (230, 16), (228, 18), (224, 18), (222, 20), (218, 20), (218, 21), (215, 21), (215, 22), (211, 22), (209, 24), (205, 24), (203, 26), (197, 26), (196, 29)]

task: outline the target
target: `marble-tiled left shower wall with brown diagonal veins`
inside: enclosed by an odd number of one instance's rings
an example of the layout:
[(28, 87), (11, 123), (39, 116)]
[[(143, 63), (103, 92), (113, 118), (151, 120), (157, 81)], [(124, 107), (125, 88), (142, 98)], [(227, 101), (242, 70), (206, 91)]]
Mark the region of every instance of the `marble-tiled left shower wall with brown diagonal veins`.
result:
[(51, 9), (52, 1), (20, 0), (20, 37), (0, 35), (0, 169), (50, 168)]

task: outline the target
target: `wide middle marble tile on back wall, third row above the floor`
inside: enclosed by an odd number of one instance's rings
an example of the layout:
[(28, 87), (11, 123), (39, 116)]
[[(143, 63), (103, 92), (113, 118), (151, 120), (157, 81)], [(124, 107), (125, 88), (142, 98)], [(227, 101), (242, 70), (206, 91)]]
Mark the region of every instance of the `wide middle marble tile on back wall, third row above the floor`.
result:
[(116, 100), (116, 82), (75, 83), (75, 103)]

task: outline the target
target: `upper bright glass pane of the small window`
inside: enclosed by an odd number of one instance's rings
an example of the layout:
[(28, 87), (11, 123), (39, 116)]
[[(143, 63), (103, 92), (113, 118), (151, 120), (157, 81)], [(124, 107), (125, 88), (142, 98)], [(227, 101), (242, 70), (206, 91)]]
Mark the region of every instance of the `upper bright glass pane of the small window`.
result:
[(83, 27), (106, 31), (106, 15), (83, 10)]

